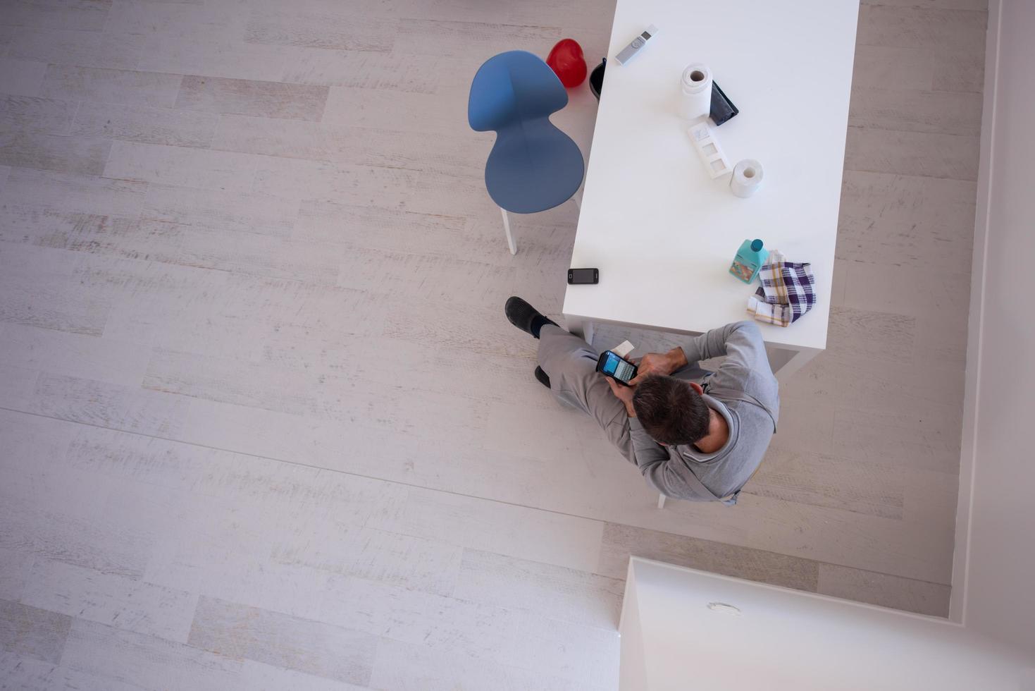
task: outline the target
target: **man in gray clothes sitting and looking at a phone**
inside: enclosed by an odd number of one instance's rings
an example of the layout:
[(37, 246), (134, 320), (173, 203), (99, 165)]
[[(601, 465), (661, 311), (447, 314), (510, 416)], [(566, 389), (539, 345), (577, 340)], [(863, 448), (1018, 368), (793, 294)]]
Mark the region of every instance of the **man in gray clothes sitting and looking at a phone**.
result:
[[(591, 415), (654, 488), (736, 503), (776, 431), (779, 395), (758, 325), (740, 321), (648, 353), (629, 386), (596, 371), (599, 353), (520, 297), (504, 308), (539, 340), (535, 378)], [(726, 355), (714, 373), (699, 361)], [(692, 379), (704, 377), (703, 384)]]

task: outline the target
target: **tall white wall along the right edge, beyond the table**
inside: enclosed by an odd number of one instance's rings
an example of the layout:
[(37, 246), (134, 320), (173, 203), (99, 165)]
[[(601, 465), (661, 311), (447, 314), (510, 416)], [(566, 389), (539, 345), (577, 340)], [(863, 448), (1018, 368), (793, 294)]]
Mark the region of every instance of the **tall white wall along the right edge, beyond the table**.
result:
[(1035, 2), (988, 25), (953, 613), (1035, 657)]

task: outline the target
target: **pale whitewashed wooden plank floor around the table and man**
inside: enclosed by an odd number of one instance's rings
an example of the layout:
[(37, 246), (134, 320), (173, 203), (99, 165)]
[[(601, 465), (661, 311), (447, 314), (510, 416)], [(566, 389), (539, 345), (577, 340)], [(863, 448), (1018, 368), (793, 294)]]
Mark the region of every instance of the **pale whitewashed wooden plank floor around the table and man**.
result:
[(947, 612), (984, 0), (862, 6), (829, 348), (739, 506), (663, 511), (502, 315), (574, 205), (511, 257), (466, 124), (612, 10), (0, 3), (0, 681), (615, 689), (629, 554)]

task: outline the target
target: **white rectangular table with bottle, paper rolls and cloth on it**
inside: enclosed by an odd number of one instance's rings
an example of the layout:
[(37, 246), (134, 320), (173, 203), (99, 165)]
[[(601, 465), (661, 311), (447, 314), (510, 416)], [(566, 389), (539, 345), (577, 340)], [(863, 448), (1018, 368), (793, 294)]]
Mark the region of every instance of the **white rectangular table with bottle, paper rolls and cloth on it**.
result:
[[(568, 286), (567, 326), (593, 322), (701, 334), (747, 318), (758, 287), (729, 273), (746, 238), (808, 261), (819, 301), (789, 327), (761, 324), (785, 378), (826, 347), (858, 0), (618, 0)], [(626, 65), (614, 60), (654, 24)], [(676, 114), (679, 80), (704, 62), (740, 114), (714, 127), (731, 164), (764, 184), (735, 197), (711, 179)]]

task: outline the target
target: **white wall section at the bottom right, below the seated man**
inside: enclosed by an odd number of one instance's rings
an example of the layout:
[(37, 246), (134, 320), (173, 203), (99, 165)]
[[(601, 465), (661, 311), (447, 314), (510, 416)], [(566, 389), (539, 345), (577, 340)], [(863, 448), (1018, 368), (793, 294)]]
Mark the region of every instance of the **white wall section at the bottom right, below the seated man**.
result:
[(621, 633), (621, 691), (1035, 689), (1023, 656), (945, 620), (638, 557)]

